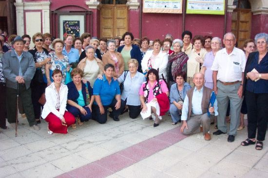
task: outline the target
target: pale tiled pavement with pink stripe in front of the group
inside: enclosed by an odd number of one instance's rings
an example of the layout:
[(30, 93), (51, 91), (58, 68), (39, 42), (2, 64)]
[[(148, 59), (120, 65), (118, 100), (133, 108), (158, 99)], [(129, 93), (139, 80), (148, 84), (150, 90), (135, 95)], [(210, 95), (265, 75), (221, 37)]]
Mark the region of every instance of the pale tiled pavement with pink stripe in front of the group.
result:
[(261, 151), (240, 146), (246, 129), (228, 143), (226, 134), (185, 137), (167, 115), (152, 125), (125, 113), (49, 135), (45, 121), (36, 131), (19, 117), (18, 137), (0, 130), (0, 178), (268, 178), (268, 142)]

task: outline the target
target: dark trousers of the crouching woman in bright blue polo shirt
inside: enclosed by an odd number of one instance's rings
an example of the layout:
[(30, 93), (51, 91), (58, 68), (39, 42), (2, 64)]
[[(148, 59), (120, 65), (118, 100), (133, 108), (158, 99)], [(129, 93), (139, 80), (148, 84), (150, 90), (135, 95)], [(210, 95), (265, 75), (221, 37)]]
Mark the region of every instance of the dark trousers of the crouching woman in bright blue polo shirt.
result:
[(122, 111), (122, 104), (118, 110), (115, 110), (115, 104), (116, 104), (116, 99), (114, 98), (113, 102), (110, 105), (103, 106), (104, 108), (104, 113), (100, 114), (99, 107), (96, 104), (92, 105), (92, 119), (96, 120), (100, 124), (104, 124), (107, 121), (107, 112), (109, 108), (112, 108), (112, 114), (114, 117), (118, 117), (118, 115)]

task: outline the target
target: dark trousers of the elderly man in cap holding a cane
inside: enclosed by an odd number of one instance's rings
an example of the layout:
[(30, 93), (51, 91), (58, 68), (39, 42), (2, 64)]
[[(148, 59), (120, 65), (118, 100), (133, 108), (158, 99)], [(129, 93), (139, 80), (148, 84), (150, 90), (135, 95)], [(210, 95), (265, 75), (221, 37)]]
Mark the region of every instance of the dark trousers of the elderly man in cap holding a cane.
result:
[[(7, 96), (7, 120), (9, 123), (16, 122), (17, 113), (17, 89), (6, 87)], [(26, 114), (30, 126), (36, 125), (31, 88), (26, 89), (25, 84), (19, 84), (19, 97), (21, 98), (23, 110)]]

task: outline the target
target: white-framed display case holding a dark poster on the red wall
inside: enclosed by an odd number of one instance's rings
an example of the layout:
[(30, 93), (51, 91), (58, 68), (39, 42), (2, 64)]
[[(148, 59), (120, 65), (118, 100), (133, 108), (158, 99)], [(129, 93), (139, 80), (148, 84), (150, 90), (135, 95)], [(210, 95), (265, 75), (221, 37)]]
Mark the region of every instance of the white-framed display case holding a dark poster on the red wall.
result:
[(85, 32), (85, 16), (83, 15), (60, 15), (59, 38), (63, 39), (67, 34), (79, 37)]

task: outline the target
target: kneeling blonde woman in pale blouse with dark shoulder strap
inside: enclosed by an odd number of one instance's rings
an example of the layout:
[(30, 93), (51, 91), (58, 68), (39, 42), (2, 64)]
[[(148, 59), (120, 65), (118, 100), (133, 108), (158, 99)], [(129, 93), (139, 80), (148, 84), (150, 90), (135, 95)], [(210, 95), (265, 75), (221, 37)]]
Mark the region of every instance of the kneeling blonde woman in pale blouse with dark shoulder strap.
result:
[(146, 81), (144, 75), (137, 72), (138, 65), (136, 59), (130, 59), (128, 61), (129, 71), (124, 71), (118, 78), (120, 83), (124, 82), (124, 88), (121, 93), (121, 108), (123, 110), (128, 105), (129, 116), (133, 119), (141, 112), (139, 89), (141, 84)]

